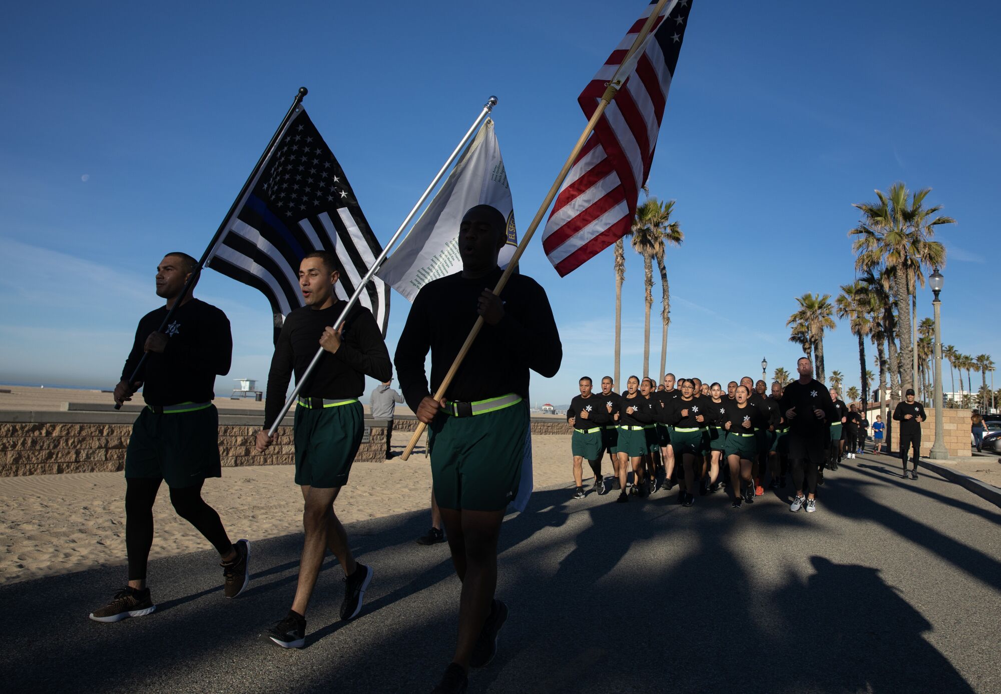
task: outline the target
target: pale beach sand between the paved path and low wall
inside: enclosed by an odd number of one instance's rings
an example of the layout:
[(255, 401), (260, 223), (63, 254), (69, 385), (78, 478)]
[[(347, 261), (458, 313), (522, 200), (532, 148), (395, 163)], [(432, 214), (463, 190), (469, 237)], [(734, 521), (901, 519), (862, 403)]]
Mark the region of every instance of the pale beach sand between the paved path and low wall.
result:
[[(570, 438), (533, 438), (537, 488), (573, 487)], [(406, 439), (397, 435), (393, 443), (398, 452)], [(203, 496), (234, 540), (300, 532), (302, 496), (293, 472), (289, 465), (223, 468), (221, 479), (205, 482)], [(427, 458), (415, 454), (406, 462), (354, 465), (334, 508), (341, 521), (349, 523), (427, 509), (429, 500)], [(165, 487), (160, 489), (153, 518), (151, 558), (211, 548), (174, 513)], [(0, 479), (0, 585), (124, 565), (125, 479), (120, 472)]]

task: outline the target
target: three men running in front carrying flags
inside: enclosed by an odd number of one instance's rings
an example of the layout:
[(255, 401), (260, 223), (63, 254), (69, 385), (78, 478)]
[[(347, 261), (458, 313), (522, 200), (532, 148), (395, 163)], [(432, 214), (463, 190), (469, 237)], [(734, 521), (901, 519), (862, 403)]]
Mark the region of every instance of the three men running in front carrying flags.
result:
[[(294, 374), (296, 382), (302, 382), (293, 443), (304, 538), (290, 608), (262, 634), (268, 643), (283, 648), (305, 645), (306, 608), (327, 550), (344, 575), (340, 618), (350, 620), (361, 611), (373, 570), (353, 556), (334, 503), (361, 443), (364, 423), (358, 397), (365, 376), (388, 382), (394, 362), (406, 403), (428, 425), (433, 498), (461, 581), (454, 655), (433, 692), (464, 692), (468, 669), (492, 660), (497, 633), (508, 618), (507, 604), (494, 597), (502, 521), (509, 504), (524, 510), (526, 492), (531, 491), (531, 483), (523, 486), (523, 477), (531, 480), (531, 466), (523, 468), (531, 461), (530, 370), (552, 377), (563, 359), (549, 299), (537, 282), (514, 274), (499, 296), (492, 292), (502, 275), (497, 256), (508, 241), (507, 229), (505, 216), (493, 207), (478, 205), (465, 213), (457, 231), (462, 271), (420, 289), (392, 361), (367, 309), (355, 305), (334, 325), (345, 306), (334, 292), (339, 278), (336, 257), (319, 251), (302, 258), (298, 280), (304, 306), (291, 311), (281, 328), (268, 374), (263, 424), (277, 418)], [(229, 371), (232, 336), (222, 311), (185, 291), (189, 280), (193, 290), (199, 271), (197, 261), (180, 252), (168, 253), (157, 266), (156, 293), (165, 305), (139, 321), (114, 391), (121, 404), (142, 387), (145, 406), (125, 456), (128, 582), (108, 604), (90, 613), (98, 622), (144, 616), (156, 609), (146, 585), (146, 564), (153, 541), (153, 503), (164, 481), (177, 513), (219, 553), (224, 595), (241, 595), (250, 580), (250, 543), (232, 542), (218, 513), (201, 497), (205, 479), (221, 476), (213, 384), (217, 375)], [(161, 328), (175, 304), (171, 322)], [(477, 339), (444, 397), (435, 399), (431, 393), (443, 383), (478, 319), (483, 325)], [(303, 382), (318, 347), (323, 353)], [(424, 367), (428, 352), (429, 378)], [(261, 429), (256, 449), (265, 451), (276, 436)]]

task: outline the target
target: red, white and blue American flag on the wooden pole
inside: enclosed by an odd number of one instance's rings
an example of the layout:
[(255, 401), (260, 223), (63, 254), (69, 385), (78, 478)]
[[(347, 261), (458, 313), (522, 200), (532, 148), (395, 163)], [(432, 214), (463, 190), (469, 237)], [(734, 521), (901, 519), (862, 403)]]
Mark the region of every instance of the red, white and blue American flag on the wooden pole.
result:
[[(594, 115), (609, 82), (657, 2), (652, 2), (578, 98)], [(640, 190), (650, 175), (668, 89), (688, 26), (692, 0), (673, 0), (655, 20), (615, 99), (598, 121), (553, 206), (543, 248), (561, 276), (576, 270), (625, 236)], [(655, 33), (656, 32), (656, 33)]]

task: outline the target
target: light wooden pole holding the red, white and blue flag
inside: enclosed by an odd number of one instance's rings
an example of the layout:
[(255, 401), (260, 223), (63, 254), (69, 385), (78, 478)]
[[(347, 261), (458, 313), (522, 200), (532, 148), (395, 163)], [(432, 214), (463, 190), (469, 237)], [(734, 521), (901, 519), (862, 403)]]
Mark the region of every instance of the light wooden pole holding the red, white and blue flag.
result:
[[(647, 35), (650, 34), (650, 30), (654, 26), (654, 22), (660, 16), (661, 11), (664, 6), (672, 3), (674, 6), (678, 0), (660, 0), (657, 3), (657, 7), (654, 8), (650, 16), (647, 17), (647, 21), (644, 23), (643, 28), (640, 33), (637, 34), (636, 40), (633, 41), (633, 45), (630, 47), (629, 52), (622, 61), (622, 65), (625, 65), (633, 57), (633, 54), (643, 45), (644, 40)], [(605, 109), (608, 108), (609, 104), (615, 98), (616, 94), (619, 93), (619, 88), (622, 87), (623, 82), (629, 75), (620, 75), (620, 70), (616, 71), (615, 76), (612, 81), (609, 82), (608, 87), (605, 89), (605, 94), (602, 95), (601, 101), (598, 103), (598, 108), (595, 109), (595, 113), (591, 116), (591, 120), (588, 121), (588, 125), (584, 128), (584, 132), (581, 133), (581, 137), (578, 138), (577, 144), (574, 145), (573, 151), (570, 156), (567, 157), (567, 161), (564, 163), (563, 168), (560, 170), (560, 174), (557, 176), (557, 180), (554, 181), (553, 185), (550, 187), (550, 192), (547, 193), (546, 199), (539, 208), (539, 212), (536, 213), (535, 218), (532, 220), (532, 224), (529, 225), (528, 230), (525, 232), (525, 236), (522, 237), (522, 242), (518, 244), (518, 248), (515, 249), (515, 254), (511, 257), (511, 262), (508, 263), (508, 267), (505, 269), (504, 274), (500, 275), (500, 279), (497, 280), (496, 286), (493, 288), (493, 293), (499, 295), (504, 291), (505, 286), (508, 284), (508, 280), (511, 278), (512, 273), (518, 266), (518, 261), (521, 259), (522, 254), (525, 253), (526, 247), (529, 245), (529, 241), (532, 239), (532, 235), (536, 233), (536, 229), (539, 224), (543, 221), (543, 217), (546, 215), (546, 211), (550, 209), (550, 205), (553, 204), (553, 200), (556, 198), (557, 193), (560, 191), (560, 186), (563, 185), (564, 179), (567, 178), (567, 174), (570, 173), (571, 167), (574, 166), (574, 161), (577, 159), (581, 150), (584, 149), (584, 145), (587, 143), (588, 138), (591, 136), (591, 132), (595, 129), (598, 124), (599, 119), (601, 119), (602, 114), (605, 113)], [(461, 349), (458, 350), (458, 354), (455, 356), (455, 360), (452, 361), (451, 366), (448, 368), (448, 372), (444, 375), (444, 379), (441, 381), (441, 385), (438, 386), (437, 392), (434, 393), (434, 400), (440, 401), (444, 397), (445, 391), (448, 386), (451, 385), (451, 380), (455, 377), (455, 372), (458, 371), (458, 367), (462, 364), (462, 360), (465, 359), (465, 355), (468, 353), (469, 348), (472, 347), (473, 341), (476, 339), (476, 335), (479, 334), (480, 329), (483, 327), (483, 317), (479, 316), (476, 318), (476, 322), (472, 326), (472, 330), (469, 331), (468, 337), (465, 338), (465, 342), (462, 343)], [(413, 452), (414, 446), (417, 445), (417, 440), (420, 435), (424, 433), (424, 429), (427, 425), (423, 422), (417, 422), (417, 428), (414, 430), (413, 435), (410, 437), (409, 443), (406, 444), (406, 448), (403, 449), (403, 454), (400, 456), (401, 460), (406, 460), (410, 457), (410, 453)]]

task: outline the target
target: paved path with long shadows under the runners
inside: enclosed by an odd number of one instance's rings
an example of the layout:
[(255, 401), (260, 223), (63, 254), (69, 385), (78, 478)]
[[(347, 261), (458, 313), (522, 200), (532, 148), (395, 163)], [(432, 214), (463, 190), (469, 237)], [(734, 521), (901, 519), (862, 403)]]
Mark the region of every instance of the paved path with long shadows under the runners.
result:
[[(502, 536), (502, 650), (469, 692), (1001, 692), (1001, 509), (934, 475), (863, 457), (828, 473), (814, 515), (769, 492), (677, 504), (537, 492)], [(889, 467), (893, 465), (893, 467)], [(351, 541), (375, 578), (337, 621), (326, 564), (307, 648), (257, 635), (287, 609), (300, 537), (253, 543), (254, 578), (227, 601), (211, 552), (154, 561), (159, 610), (87, 612), (122, 569), (0, 588), (11, 692), (425, 694), (451, 655), (458, 583), (425, 514), (365, 521)]]

